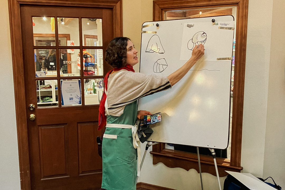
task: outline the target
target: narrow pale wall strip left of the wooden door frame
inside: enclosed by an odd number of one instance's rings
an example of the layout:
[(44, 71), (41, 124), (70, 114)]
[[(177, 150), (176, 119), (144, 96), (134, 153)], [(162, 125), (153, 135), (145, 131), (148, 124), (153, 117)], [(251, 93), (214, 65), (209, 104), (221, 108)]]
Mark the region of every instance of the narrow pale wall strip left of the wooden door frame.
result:
[(20, 190), (20, 170), (8, 1), (1, 1), (0, 17), (0, 189)]

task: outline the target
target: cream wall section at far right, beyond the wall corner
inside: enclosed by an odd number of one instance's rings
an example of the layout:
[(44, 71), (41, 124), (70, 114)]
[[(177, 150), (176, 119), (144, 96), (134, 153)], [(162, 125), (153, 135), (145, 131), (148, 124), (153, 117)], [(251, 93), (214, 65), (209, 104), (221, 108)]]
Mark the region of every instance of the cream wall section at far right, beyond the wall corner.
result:
[(285, 188), (285, 1), (273, 1), (263, 178)]

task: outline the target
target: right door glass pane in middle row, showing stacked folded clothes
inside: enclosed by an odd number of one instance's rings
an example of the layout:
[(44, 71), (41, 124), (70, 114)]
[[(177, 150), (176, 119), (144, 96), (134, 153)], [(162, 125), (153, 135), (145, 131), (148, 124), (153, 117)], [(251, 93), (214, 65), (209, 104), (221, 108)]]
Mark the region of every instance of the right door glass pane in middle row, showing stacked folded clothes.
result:
[(103, 50), (87, 49), (83, 51), (84, 76), (103, 75)]

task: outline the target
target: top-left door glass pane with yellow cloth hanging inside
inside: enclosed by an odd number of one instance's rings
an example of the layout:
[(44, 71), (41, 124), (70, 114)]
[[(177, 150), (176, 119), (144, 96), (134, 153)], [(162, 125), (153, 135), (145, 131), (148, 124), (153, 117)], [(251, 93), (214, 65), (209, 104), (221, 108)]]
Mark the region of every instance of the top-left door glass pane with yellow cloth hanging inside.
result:
[(55, 46), (54, 17), (32, 17), (34, 46)]

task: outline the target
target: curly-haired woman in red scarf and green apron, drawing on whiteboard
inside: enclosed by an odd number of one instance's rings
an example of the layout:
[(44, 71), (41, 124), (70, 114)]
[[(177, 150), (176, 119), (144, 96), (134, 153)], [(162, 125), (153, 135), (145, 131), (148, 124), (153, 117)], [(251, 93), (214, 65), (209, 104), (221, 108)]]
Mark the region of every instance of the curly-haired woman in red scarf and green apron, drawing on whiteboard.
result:
[(114, 69), (105, 76), (105, 93), (99, 108), (98, 130), (106, 125), (102, 141), (102, 189), (136, 189), (140, 151), (137, 151), (139, 139), (135, 124), (137, 118), (151, 114), (137, 111), (137, 100), (176, 84), (203, 56), (204, 46), (196, 46), (190, 60), (168, 77), (135, 73), (133, 66), (139, 62), (137, 53), (126, 37), (114, 38), (106, 50), (105, 60)]

